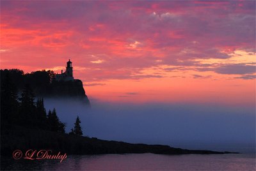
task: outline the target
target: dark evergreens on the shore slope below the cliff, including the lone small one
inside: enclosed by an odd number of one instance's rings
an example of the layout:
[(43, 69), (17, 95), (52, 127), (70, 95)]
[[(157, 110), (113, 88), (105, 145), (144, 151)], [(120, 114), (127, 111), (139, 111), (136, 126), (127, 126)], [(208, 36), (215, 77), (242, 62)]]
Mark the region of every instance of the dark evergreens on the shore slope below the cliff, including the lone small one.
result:
[[(46, 112), (44, 99), (38, 98), (35, 101), (35, 94), (29, 84), (24, 85), (20, 96), (18, 96), (18, 87), (12, 78), (9, 72), (1, 74), (1, 129), (19, 125), (26, 128), (65, 133), (66, 124), (60, 121), (56, 109), (53, 108)], [(77, 116), (70, 134), (83, 135), (80, 123)]]

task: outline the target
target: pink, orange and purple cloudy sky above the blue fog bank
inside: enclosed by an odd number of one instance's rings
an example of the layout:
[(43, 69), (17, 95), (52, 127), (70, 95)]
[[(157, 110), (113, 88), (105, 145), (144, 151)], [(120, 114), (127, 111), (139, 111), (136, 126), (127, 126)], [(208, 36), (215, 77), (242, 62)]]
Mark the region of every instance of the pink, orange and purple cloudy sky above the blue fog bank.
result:
[(1, 1), (1, 69), (60, 73), (90, 99), (255, 105), (255, 1)]

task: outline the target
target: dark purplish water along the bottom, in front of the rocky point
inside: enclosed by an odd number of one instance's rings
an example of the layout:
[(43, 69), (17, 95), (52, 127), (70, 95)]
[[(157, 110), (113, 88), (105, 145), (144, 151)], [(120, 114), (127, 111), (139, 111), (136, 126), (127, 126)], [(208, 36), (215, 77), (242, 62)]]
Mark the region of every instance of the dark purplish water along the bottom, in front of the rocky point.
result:
[(255, 170), (255, 154), (104, 154), (58, 160), (8, 160), (8, 170)]

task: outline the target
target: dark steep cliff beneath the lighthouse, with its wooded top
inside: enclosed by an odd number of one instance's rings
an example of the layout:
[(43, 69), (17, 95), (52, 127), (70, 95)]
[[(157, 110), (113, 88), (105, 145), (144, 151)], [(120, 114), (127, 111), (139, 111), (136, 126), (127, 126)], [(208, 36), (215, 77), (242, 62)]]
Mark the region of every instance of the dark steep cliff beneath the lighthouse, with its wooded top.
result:
[(81, 80), (58, 82), (55, 78), (56, 74), (53, 71), (42, 70), (24, 74), (18, 69), (1, 70), (1, 86), (6, 79), (10, 79), (18, 92), (28, 84), (36, 97), (76, 98), (85, 105), (90, 105)]

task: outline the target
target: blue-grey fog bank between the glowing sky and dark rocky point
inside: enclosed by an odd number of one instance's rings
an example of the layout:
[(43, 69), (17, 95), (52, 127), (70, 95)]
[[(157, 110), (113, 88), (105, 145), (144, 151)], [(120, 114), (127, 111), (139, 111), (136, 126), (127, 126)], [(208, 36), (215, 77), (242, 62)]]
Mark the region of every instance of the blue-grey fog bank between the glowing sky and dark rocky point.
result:
[(104, 140), (163, 144), (188, 149), (255, 151), (255, 109), (180, 103), (104, 103), (91, 108), (76, 100), (45, 99), (60, 120), (74, 127), (77, 115), (84, 135)]

